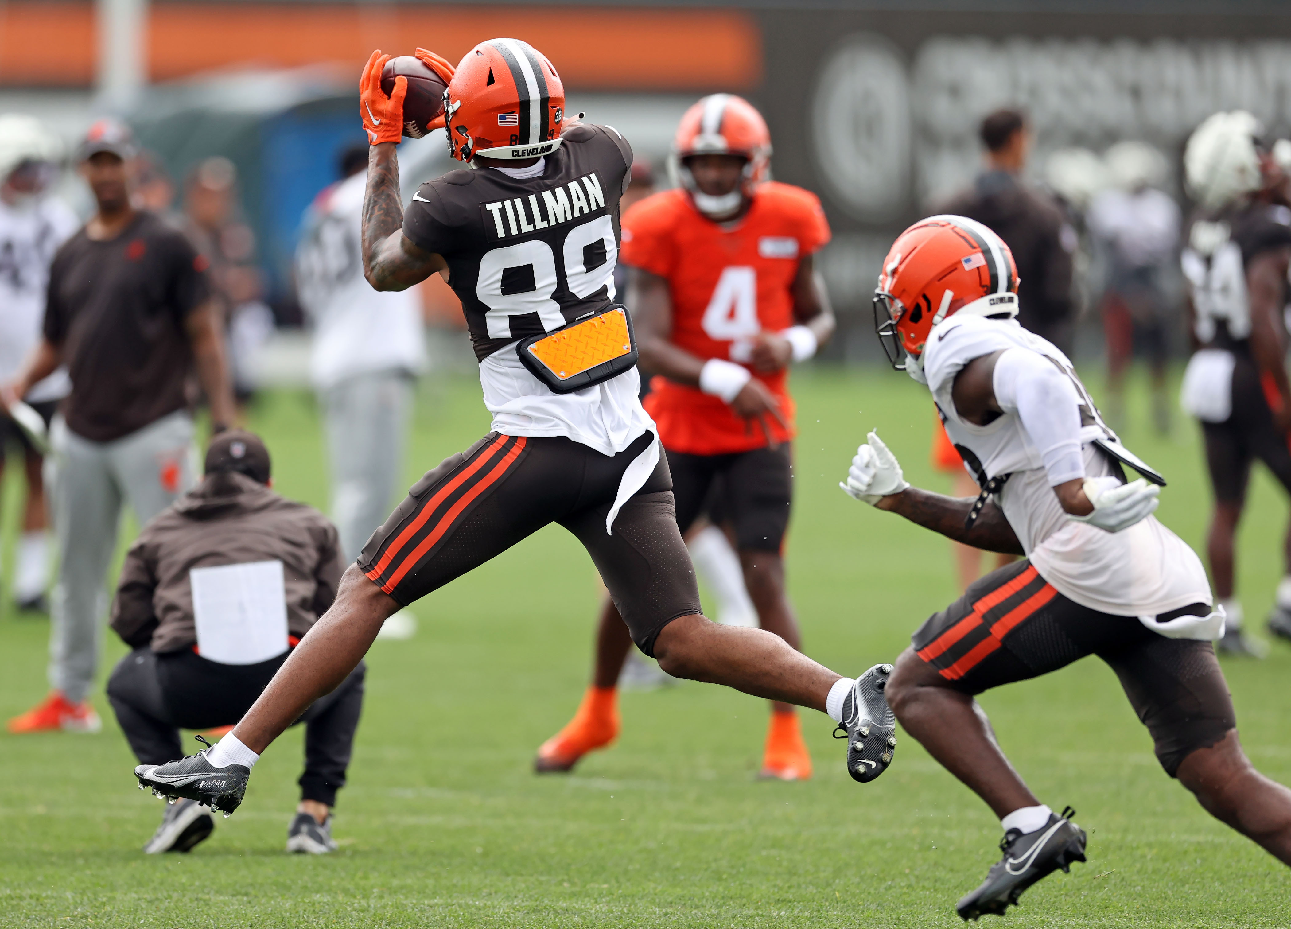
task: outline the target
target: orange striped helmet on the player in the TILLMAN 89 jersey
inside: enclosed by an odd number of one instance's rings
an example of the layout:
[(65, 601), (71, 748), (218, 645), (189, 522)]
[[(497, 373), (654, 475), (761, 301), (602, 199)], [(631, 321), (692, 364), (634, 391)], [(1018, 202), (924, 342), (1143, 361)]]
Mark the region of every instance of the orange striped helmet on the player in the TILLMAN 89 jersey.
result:
[(462, 58), (444, 90), (448, 154), (529, 159), (560, 147), (564, 84), (546, 55), (519, 39), (489, 39)]

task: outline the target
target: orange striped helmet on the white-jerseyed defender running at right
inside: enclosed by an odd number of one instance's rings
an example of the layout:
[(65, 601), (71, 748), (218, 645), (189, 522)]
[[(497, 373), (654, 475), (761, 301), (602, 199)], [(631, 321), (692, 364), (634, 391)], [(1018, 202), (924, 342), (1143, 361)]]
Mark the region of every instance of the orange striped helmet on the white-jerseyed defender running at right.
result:
[[(874, 332), (888, 361), (920, 379), (932, 328), (954, 314), (1017, 315), (1017, 265), (976, 219), (920, 219), (892, 243), (874, 289)], [(902, 359), (904, 356), (904, 359)]]

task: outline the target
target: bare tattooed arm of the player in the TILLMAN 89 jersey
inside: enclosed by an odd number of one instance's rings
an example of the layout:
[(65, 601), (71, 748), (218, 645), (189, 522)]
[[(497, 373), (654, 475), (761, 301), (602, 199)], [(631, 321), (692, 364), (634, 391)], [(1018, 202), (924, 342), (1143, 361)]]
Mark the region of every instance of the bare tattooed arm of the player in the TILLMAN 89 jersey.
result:
[(403, 234), (395, 143), (371, 146), (363, 195), (363, 276), (376, 290), (407, 290), (447, 267), (443, 255), (418, 248)]

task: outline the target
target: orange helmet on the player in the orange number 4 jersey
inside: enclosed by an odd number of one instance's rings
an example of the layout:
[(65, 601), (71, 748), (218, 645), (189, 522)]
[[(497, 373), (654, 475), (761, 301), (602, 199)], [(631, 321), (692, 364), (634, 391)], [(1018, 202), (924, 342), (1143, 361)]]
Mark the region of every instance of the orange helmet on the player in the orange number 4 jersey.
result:
[[(729, 194), (705, 194), (686, 164), (692, 155), (738, 155), (745, 159), (740, 185)], [(735, 94), (709, 94), (682, 116), (673, 142), (670, 168), (705, 215), (728, 215), (771, 173), (771, 132), (749, 101)]]

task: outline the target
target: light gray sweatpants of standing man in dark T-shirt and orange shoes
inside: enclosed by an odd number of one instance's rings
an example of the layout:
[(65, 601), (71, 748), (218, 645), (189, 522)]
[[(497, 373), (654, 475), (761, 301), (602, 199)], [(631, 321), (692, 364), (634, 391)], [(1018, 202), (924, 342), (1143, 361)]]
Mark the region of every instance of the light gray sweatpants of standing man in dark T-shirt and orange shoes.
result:
[(142, 526), (192, 486), (192, 418), (178, 410), (110, 443), (96, 443), (56, 417), (45, 458), (58, 579), (50, 604), (49, 683), (70, 701), (89, 693), (98, 666), (106, 574), (116, 550), (121, 503)]

